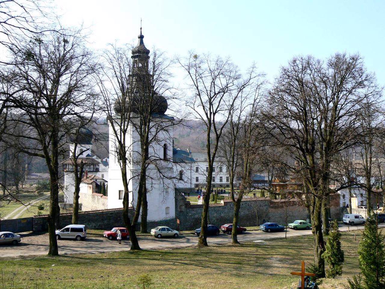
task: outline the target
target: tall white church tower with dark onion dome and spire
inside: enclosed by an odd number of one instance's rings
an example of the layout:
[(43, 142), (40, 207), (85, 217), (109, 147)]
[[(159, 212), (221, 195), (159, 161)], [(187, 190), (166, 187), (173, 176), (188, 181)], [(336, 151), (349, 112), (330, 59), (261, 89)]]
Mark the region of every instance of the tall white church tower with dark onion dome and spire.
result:
[[(130, 181), (129, 203), (136, 207), (137, 189), (139, 185), (141, 145), (139, 134), (135, 128), (134, 122), (139, 122), (140, 116), (151, 113), (150, 135), (155, 135), (156, 141), (152, 141), (149, 147), (149, 165), (147, 167), (147, 203), (148, 215), (147, 220), (159, 221), (175, 217), (175, 198), (174, 185), (172, 178), (174, 170), (172, 167), (172, 129), (169, 123), (174, 120), (173, 117), (167, 116), (165, 113), (168, 108), (167, 100), (164, 96), (158, 94), (152, 83), (152, 62), (150, 59), (150, 50), (144, 45), (144, 35), (142, 28), (138, 35), (138, 43), (131, 51), (132, 56), (132, 74), (131, 82), (131, 106), (126, 106), (126, 101), (117, 98), (114, 104), (116, 117), (122, 116), (124, 113), (132, 113), (131, 128), (127, 132), (126, 140), (129, 139), (129, 150), (131, 153), (131, 161), (128, 164), (127, 178)], [(151, 62), (152, 60), (152, 62)], [(124, 106), (123, 106), (124, 103)], [(139, 115), (140, 114), (140, 115)], [(118, 123), (118, 122), (117, 122)], [(167, 124), (168, 131), (162, 131), (162, 123)], [(164, 126), (166, 127), (166, 125)], [(115, 130), (119, 129), (115, 127)], [(110, 126), (109, 141), (109, 190), (108, 190), (108, 208), (122, 208), (123, 183), (119, 160), (116, 157), (116, 146), (114, 142), (114, 134)], [(129, 134), (129, 135), (128, 135)]]

